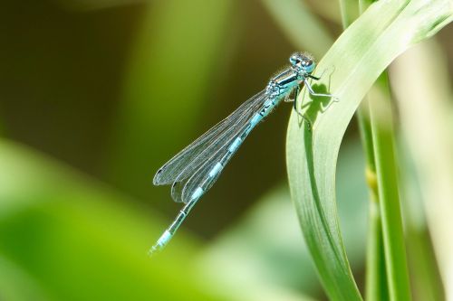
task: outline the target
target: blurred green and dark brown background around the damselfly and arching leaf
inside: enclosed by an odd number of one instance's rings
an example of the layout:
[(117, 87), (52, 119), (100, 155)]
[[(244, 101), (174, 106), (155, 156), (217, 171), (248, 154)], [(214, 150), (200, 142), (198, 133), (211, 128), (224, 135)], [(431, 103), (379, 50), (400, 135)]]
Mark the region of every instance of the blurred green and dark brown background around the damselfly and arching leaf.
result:
[[(147, 255), (180, 206), (152, 185), (159, 166), (304, 50), (269, 2), (2, 1), (0, 300), (325, 298), (287, 189), (288, 104), (247, 138), (168, 249)], [(326, 34), (342, 32), (335, 1), (305, 5)], [(437, 36), (450, 71), (452, 34)], [(309, 43), (322, 54), (318, 38)], [(352, 122), (337, 191), (361, 289), (363, 168)]]

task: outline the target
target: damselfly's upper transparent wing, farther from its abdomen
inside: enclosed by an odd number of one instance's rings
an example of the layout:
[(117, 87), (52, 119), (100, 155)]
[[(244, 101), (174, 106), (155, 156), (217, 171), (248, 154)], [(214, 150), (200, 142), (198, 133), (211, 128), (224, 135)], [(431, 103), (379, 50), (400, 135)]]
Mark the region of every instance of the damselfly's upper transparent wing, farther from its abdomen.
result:
[(188, 178), (207, 158), (216, 153), (218, 148), (236, 135), (236, 132), (246, 124), (246, 121), (253, 116), (264, 101), (265, 90), (246, 100), (227, 118), (211, 127), (205, 134), (198, 137), (197, 140), (163, 165), (154, 176), (153, 183), (155, 185), (169, 184), (181, 182)]

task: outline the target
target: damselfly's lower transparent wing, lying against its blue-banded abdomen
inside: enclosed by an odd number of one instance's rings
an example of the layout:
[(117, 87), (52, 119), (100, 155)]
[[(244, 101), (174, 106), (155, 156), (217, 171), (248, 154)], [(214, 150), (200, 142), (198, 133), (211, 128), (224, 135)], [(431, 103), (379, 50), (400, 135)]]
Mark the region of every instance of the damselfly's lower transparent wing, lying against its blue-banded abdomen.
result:
[[(265, 98), (264, 98), (265, 99)], [(199, 157), (202, 157), (203, 160), (197, 169), (194, 170), (189, 176), (185, 178), (177, 178), (171, 187), (171, 197), (176, 202), (188, 202), (192, 194), (198, 189), (202, 188), (203, 193), (206, 193), (209, 188), (216, 183), (218, 176), (222, 173), (223, 168), (229, 162), (234, 153), (229, 152), (229, 147), (232, 145), (236, 137), (243, 135), (246, 130), (246, 127), (249, 127), (250, 120), (255, 116), (256, 112), (260, 111), (263, 108), (263, 103), (260, 106), (256, 106), (253, 111), (249, 112), (246, 115), (246, 118), (242, 118), (238, 123), (234, 131), (229, 133), (217, 141), (217, 146), (214, 151), (209, 152), (208, 154), (201, 153)], [(216, 173), (210, 174), (213, 168), (219, 165), (219, 170)]]

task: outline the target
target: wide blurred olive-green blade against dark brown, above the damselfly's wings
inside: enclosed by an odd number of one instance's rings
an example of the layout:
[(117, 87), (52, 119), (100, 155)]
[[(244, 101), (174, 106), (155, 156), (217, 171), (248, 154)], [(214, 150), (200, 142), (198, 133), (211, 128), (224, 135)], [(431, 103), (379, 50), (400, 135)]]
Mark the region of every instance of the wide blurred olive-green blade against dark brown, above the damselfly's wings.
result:
[(231, 7), (227, 0), (145, 6), (106, 162), (113, 183), (149, 195), (145, 190), (152, 187), (154, 168), (194, 135), (194, 122), (212, 89), (209, 75), (217, 51), (231, 28), (226, 23)]

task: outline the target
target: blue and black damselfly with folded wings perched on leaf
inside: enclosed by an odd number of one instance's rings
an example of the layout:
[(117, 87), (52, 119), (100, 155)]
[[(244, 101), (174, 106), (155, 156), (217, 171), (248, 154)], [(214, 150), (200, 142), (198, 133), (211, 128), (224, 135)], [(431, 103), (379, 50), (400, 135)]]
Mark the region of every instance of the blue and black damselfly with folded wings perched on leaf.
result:
[[(296, 99), (302, 83), (313, 96), (333, 97), (331, 94), (313, 91), (308, 79), (319, 80), (320, 78), (312, 75), (316, 63), (309, 54), (294, 53), (289, 61), (290, 66), (269, 80), (264, 90), (248, 99), (231, 115), (209, 129), (159, 169), (153, 183), (155, 185), (171, 183), (171, 197), (175, 202), (185, 203), (185, 206), (150, 249), (151, 253), (163, 249), (169, 243), (188, 216), (188, 212), (216, 182), (246, 136), (273, 111), (282, 99), (294, 101), (294, 109), (298, 112)], [(293, 91), (294, 99), (290, 99)], [(303, 115), (300, 114), (300, 116)]]

